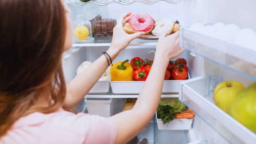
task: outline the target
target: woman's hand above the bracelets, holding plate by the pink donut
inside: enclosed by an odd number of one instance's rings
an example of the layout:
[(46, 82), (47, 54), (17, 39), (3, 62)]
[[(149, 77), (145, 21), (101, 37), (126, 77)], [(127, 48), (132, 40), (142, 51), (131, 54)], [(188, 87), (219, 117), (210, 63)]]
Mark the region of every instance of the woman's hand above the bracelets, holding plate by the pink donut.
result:
[(130, 15), (131, 13), (127, 13), (119, 17), (119, 20), (117, 21), (117, 25), (114, 27), (114, 30), (113, 30), (113, 39), (112, 39), (111, 46), (109, 48), (110, 50), (115, 50), (120, 52), (124, 48), (126, 48), (132, 40), (142, 35), (145, 35), (145, 32), (127, 34), (124, 31), (123, 26), (125, 25), (125, 23), (128, 22)]

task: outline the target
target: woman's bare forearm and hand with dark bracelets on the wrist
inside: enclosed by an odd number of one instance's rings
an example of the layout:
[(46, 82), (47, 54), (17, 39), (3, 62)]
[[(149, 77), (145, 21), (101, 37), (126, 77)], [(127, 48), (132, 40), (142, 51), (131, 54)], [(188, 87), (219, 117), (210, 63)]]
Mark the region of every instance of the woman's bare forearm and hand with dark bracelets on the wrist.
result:
[[(124, 14), (118, 20), (116, 27), (113, 30), (113, 40), (107, 53), (110, 55), (111, 59), (114, 60), (117, 55), (126, 48), (129, 43), (141, 35), (144, 32), (127, 34), (123, 30), (123, 25), (129, 19), (131, 13)], [(68, 85), (67, 85), (67, 96), (64, 103), (65, 109), (71, 109), (79, 101), (81, 101), (84, 96), (90, 91), (91, 88), (96, 84), (101, 75), (108, 68), (108, 61), (105, 56), (101, 56), (95, 62), (93, 62), (88, 68), (82, 73), (78, 74)]]

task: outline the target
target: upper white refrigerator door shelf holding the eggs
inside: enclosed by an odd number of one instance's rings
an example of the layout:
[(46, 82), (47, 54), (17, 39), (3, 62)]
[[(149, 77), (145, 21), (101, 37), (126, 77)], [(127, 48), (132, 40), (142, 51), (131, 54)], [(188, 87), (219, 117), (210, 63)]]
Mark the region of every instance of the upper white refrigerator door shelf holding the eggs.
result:
[[(256, 49), (231, 44), (187, 28), (182, 28), (180, 35), (183, 48), (256, 81), (256, 61), (255, 56), (252, 55), (256, 53)], [(208, 71), (216, 70), (213, 67)]]

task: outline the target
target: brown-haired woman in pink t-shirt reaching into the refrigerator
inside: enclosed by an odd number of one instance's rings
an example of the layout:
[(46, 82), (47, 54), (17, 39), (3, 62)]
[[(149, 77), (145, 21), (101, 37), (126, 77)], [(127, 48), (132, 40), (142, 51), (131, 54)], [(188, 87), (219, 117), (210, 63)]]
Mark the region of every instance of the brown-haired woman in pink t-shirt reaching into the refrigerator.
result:
[[(153, 118), (168, 61), (183, 52), (179, 33), (159, 38), (154, 64), (132, 110), (109, 118), (73, 114), (65, 110), (83, 99), (108, 62), (101, 56), (66, 86), (61, 55), (73, 43), (67, 15), (61, 0), (0, 1), (1, 144), (124, 144)], [(124, 32), (129, 15), (120, 17), (114, 28), (107, 51), (112, 60), (144, 34)]]

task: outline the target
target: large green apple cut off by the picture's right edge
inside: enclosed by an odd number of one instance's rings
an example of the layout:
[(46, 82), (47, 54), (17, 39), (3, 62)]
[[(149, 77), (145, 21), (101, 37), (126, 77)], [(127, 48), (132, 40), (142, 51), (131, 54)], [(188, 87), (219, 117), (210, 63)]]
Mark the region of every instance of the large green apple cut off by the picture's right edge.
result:
[(230, 115), (256, 133), (256, 83), (238, 94), (230, 107)]

